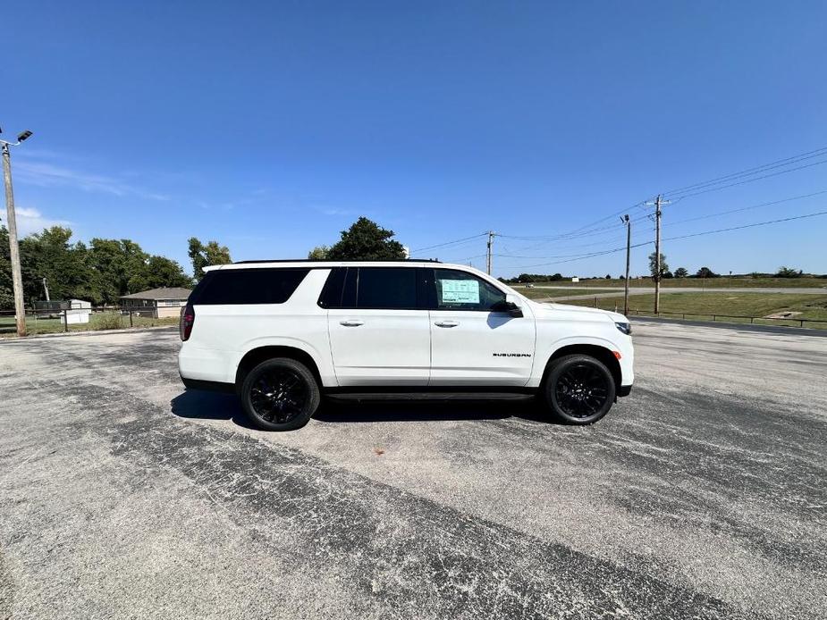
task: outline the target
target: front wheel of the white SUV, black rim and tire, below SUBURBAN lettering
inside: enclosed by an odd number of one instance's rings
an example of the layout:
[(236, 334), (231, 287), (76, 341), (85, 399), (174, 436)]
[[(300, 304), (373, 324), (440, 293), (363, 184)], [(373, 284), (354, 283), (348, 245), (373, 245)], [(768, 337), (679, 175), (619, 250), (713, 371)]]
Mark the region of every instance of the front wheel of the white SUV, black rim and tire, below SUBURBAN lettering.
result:
[(597, 422), (612, 408), (614, 377), (599, 359), (586, 355), (555, 359), (543, 384), (545, 404), (562, 422)]

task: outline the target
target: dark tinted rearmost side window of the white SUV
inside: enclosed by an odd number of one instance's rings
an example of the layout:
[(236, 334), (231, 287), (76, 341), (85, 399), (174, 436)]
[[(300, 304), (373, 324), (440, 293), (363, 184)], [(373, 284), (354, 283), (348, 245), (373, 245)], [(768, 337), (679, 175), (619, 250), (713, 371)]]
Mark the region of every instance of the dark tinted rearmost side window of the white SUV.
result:
[(283, 304), (309, 269), (222, 269), (207, 272), (190, 295), (200, 306)]

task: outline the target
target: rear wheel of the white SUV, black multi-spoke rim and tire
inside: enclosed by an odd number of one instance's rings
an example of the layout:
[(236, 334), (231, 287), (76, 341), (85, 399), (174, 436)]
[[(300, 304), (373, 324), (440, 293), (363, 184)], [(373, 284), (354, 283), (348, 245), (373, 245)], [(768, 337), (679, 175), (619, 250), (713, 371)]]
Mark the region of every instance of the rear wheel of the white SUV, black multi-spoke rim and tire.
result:
[(265, 431), (292, 431), (308, 423), (321, 399), (316, 377), (289, 357), (258, 364), (241, 383), (241, 407)]

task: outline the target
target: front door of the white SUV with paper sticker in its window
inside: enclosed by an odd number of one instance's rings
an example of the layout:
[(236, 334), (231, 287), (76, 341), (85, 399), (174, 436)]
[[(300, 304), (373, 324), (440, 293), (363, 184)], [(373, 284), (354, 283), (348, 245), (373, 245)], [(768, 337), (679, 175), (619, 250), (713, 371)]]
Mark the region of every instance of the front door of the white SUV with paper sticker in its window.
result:
[(425, 270), (432, 386), (521, 387), (531, 376), (536, 327), (528, 307), (492, 310), (505, 292), (470, 272)]

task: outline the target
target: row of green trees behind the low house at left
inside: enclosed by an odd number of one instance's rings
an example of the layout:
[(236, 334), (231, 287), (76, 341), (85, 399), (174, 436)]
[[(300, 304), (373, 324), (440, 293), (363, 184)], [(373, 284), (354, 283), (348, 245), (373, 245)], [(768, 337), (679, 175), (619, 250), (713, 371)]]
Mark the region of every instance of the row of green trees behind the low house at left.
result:
[[(193, 278), (181, 264), (149, 254), (131, 239), (95, 238), (72, 242), (72, 230), (53, 226), (20, 240), (23, 300), (86, 299), (95, 306), (116, 305), (120, 297), (148, 289), (190, 288)], [(197, 278), (207, 264), (226, 264), (230, 251), (215, 241), (193, 237), (189, 256)], [(14, 307), (8, 230), (0, 225), (0, 309)]]

